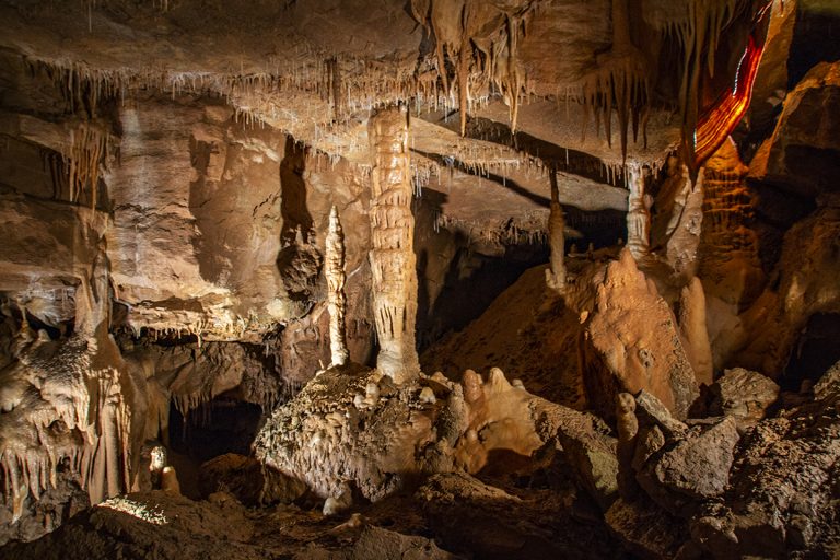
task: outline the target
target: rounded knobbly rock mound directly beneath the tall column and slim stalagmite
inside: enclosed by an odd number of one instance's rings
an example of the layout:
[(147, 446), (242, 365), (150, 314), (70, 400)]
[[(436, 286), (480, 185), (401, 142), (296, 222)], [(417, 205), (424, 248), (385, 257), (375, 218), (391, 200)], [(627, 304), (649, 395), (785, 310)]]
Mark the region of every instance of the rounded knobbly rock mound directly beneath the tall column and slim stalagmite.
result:
[[(376, 501), (422, 470), (417, 456), (432, 440), (435, 411), (417, 400), (416, 386), (392, 393), (388, 377), (350, 365), (322, 372), (278, 407), (254, 447), (267, 468), (301, 480), (322, 499), (341, 494), (347, 481)], [(378, 384), (381, 398), (357, 407), (370, 383)]]

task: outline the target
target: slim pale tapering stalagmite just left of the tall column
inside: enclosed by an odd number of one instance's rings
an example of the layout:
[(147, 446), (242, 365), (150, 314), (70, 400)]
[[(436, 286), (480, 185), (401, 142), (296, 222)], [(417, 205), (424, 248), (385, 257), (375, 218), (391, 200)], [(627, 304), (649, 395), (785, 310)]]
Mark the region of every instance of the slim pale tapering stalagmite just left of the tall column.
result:
[(327, 277), (327, 298), (329, 301), (329, 351), (332, 365), (343, 365), (347, 362), (347, 338), (345, 332), (345, 234), (338, 209), (334, 206), (329, 212), (329, 230), (327, 231), (326, 259), (324, 262)]

